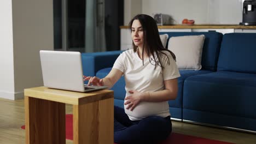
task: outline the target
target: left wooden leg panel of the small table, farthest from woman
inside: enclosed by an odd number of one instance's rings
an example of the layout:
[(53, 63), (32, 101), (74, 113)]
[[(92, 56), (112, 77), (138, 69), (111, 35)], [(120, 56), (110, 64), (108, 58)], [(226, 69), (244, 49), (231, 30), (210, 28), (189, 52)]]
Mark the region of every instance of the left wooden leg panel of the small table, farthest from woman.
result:
[(26, 143), (66, 143), (65, 104), (25, 96)]

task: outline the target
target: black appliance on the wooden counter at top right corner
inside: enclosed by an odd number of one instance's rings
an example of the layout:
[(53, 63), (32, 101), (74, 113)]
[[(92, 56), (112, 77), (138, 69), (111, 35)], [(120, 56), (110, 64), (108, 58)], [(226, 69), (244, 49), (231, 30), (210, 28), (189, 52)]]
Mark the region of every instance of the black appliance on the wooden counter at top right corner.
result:
[(240, 25), (256, 25), (256, 0), (243, 2), (243, 21), (240, 22)]

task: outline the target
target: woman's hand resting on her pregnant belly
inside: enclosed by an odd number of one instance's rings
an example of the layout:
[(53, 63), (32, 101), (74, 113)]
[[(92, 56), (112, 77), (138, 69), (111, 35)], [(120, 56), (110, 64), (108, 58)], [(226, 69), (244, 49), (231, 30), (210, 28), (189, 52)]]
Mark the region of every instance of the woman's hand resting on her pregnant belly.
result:
[(142, 101), (142, 93), (135, 91), (135, 90), (131, 90), (129, 91), (129, 93), (131, 95), (127, 96), (125, 98), (125, 103), (124, 105), (126, 106), (126, 109), (129, 110), (131, 109), (131, 111)]

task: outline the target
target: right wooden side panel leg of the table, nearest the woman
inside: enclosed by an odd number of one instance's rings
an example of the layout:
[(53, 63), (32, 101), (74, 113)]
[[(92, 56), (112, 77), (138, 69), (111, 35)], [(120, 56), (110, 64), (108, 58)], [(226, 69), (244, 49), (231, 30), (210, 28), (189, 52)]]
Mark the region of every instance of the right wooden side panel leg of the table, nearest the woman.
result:
[(114, 98), (73, 105), (73, 142), (114, 143)]

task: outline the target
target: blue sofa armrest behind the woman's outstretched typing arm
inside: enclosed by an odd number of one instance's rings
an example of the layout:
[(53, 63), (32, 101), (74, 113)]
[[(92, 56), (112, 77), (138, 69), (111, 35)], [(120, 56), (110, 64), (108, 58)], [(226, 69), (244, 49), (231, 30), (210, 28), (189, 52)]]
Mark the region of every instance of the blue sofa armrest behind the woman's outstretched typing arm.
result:
[(95, 76), (98, 70), (113, 67), (115, 60), (123, 51), (82, 53), (83, 74)]

